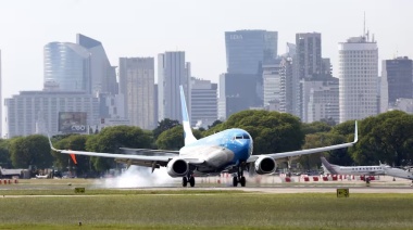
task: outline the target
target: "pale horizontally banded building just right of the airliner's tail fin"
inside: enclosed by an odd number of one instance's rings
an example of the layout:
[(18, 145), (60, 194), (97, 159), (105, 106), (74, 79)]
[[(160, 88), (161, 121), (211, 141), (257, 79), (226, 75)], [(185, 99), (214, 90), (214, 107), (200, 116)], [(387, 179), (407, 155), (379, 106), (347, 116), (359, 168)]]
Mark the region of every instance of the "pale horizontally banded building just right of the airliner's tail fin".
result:
[(218, 117), (217, 84), (191, 78), (191, 127), (208, 128)]

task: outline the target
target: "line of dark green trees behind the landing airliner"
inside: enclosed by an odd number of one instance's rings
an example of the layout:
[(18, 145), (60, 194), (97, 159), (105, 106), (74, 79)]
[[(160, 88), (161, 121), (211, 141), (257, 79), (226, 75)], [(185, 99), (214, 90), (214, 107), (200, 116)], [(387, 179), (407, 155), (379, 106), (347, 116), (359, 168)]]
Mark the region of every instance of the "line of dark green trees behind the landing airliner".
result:
[[(253, 154), (267, 154), (350, 142), (354, 138), (354, 120), (335, 125), (325, 119), (303, 124), (296, 116), (267, 111), (242, 111), (226, 122), (215, 122), (208, 129), (193, 130), (197, 138), (228, 128), (247, 130), (254, 141)], [(57, 149), (124, 153), (120, 148), (179, 150), (184, 145), (183, 127), (177, 120), (164, 119), (154, 130), (139, 127), (107, 127), (95, 135), (59, 135), (52, 137)], [(359, 120), (359, 142), (349, 149), (301, 156), (305, 169), (321, 166), (321, 156), (337, 165), (410, 165), (413, 157), (413, 115), (391, 111)], [(113, 158), (77, 155), (77, 174), (104, 171), (116, 167)], [(74, 167), (68, 155), (50, 150), (41, 135), (0, 139), (0, 166), (4, 168)]]

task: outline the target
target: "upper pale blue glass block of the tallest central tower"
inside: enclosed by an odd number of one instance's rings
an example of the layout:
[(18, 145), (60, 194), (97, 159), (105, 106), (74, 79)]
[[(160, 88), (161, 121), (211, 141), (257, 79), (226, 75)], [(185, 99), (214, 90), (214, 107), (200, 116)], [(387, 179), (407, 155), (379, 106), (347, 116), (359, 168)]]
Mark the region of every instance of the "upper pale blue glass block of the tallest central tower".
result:
[(228, 74), (258, 74), (261, 65), (277, 56), (277, 31), (236, 30), (225, 33)]

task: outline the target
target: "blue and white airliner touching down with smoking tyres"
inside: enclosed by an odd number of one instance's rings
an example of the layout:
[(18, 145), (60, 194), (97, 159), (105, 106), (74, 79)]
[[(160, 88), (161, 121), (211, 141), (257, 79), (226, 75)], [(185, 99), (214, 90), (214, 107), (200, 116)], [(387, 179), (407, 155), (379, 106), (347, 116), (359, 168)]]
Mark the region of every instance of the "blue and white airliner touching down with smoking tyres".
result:
[(209, 137), (197, 140), (192, 135), (184, 94), (180, 89), (180, 104), (183, 113), (183, 127), (185, 145), (179, 151), (136, 149), (135, 154), (96, 153), (85, 151), (71, 151), (54, 149), (49, 137), (50, 148), (59, 153), (74, 155), (112, 157), (128, 166), (138, 165), (155, 168), (166, 167), (171, 177), (183, 177), (183, 187), (195, 186), (195, 176), (217, 176), (222, 173), (233, 174), (233, 186), (246, 186), (245, 170), (251, 168), (259, 175), (272, 174), (277, 163), (317, 152), (325, 152), (352, 146), (358, 142), (358, 124), (355, 122), (354, 141), (349, 143), (329, 145), (324, 148), (299, 150), (284, 153), (252, 155), (253, 140), (243, 129), (226, 129)]

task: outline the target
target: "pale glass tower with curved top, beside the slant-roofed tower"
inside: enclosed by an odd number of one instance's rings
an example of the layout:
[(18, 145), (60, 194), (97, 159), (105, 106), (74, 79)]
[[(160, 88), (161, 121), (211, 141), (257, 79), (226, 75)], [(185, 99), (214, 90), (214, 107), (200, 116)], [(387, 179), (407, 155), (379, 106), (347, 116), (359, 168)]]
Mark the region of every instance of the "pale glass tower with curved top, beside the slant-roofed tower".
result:
[(71, 42), (50, 42), (43, 48), (45, 82), (61, 91), (90, 92), (90, 52)]

